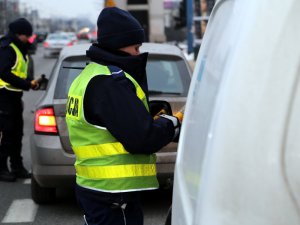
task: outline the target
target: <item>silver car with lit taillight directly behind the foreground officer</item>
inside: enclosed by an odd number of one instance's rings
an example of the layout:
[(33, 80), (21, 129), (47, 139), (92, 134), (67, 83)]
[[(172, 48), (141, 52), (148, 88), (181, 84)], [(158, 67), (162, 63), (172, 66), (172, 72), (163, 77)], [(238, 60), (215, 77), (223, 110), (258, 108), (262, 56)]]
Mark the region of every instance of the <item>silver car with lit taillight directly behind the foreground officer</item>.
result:
[[(72, 151), (65, 109), (69, 87), (89, 62), (85, 56), (90, 44), (62, 50), (54, 66), (44, 96), (35, 109), (34, 134), (30, 138), (32, 158), (32, 198), (36, 203), (55, 199), (56, 188), (75, 184), (75, 155)], [(149, 52), (147, 77), (150, 101), (170, 103), (173, 113), (186, 102), (191, 69), (179, 48), (167, 44), (145, 43), (141, 52)], [(157, 153), (157, 172), (161, 187), (173, 180), (177, 143)]]

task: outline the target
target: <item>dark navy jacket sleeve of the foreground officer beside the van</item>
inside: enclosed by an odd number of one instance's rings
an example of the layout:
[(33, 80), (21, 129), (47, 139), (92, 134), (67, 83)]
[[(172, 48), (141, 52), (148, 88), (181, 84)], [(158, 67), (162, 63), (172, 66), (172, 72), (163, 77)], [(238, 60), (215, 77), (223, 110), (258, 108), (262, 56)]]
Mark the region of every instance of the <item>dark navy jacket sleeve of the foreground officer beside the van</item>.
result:
[(130, 153), (157, 152), (174, 136), (172, 122), (153, 120), (125, 77), (94, 77), (85, 93), (84, 113), (88, 122), (105, 126)]

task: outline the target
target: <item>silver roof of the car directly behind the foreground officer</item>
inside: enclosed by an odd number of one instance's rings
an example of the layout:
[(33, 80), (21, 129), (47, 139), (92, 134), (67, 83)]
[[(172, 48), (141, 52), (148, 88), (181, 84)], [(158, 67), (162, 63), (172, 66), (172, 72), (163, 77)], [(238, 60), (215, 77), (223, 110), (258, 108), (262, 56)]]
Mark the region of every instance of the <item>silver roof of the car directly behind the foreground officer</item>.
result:
[[(60, 58), (69, 56), (82, 56), (91, 46), (91, 43), (82, 43), (73, 46), (64, 47), (60, 53)], [(165, 43), (143, 43), (140, 48), (141, 52), (149, 52), (150, 54), (173, 55), (184, 58), (180, 48), (175, 45)]]

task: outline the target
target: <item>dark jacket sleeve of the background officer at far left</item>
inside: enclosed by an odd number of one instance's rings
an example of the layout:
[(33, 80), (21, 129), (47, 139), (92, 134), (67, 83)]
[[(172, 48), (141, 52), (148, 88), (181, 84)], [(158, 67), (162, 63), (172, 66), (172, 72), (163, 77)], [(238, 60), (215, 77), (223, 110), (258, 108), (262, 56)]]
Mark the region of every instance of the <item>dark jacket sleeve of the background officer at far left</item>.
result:
[(29, 90), (30, 80), (21, 79), (11, 73), (11, 68), (16, 62), (16, 53), (11, 47), (0, 48), (0, 78), (16, 88)]

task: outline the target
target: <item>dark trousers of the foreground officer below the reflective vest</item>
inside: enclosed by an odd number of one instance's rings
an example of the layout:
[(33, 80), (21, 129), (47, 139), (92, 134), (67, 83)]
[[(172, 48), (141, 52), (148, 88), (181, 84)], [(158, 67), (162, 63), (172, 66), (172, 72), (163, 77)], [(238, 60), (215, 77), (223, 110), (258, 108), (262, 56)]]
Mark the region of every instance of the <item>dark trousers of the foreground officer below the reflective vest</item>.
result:
[(85, 225), (143, 225), (139, 192), (105, 193), (76, 186)]

